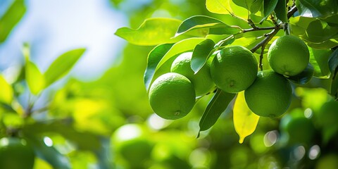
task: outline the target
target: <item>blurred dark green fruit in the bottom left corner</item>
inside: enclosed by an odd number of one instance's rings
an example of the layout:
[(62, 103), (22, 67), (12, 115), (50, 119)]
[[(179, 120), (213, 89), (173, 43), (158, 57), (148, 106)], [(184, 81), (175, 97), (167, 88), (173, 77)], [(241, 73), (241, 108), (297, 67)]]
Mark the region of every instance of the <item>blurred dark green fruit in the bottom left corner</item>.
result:
[(0, 139), (0, 168), (32, 169), (35, 154), (24, 139), (4, 137)]

